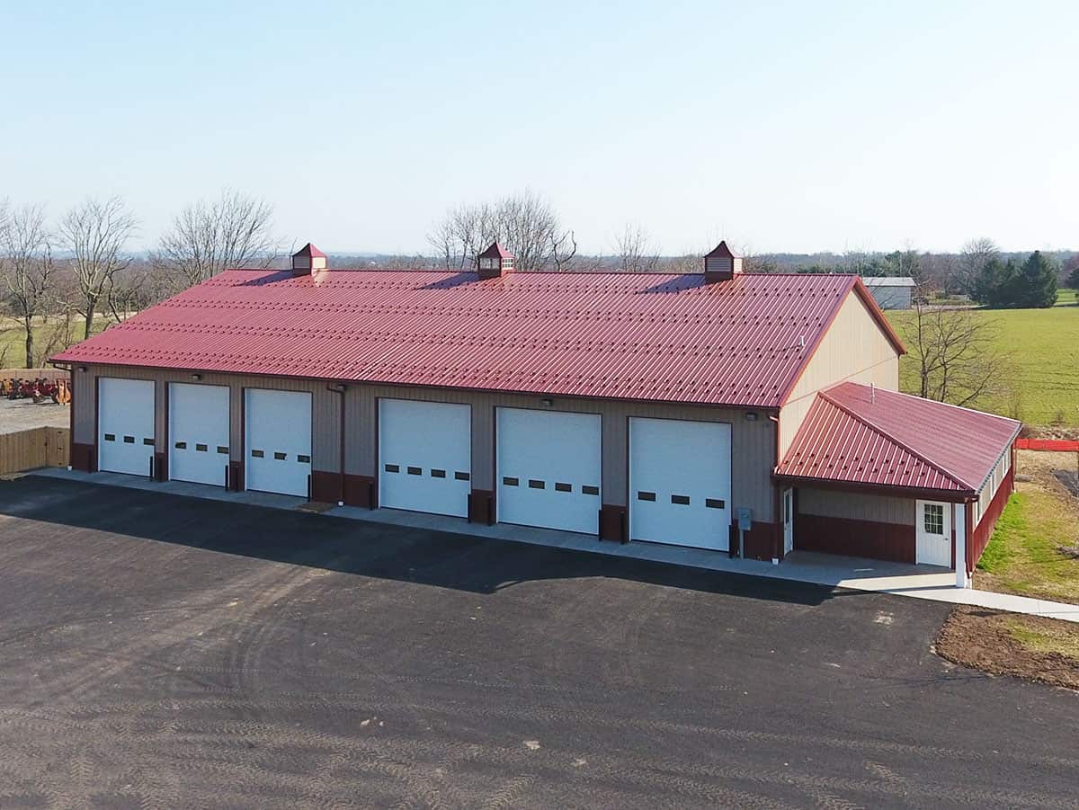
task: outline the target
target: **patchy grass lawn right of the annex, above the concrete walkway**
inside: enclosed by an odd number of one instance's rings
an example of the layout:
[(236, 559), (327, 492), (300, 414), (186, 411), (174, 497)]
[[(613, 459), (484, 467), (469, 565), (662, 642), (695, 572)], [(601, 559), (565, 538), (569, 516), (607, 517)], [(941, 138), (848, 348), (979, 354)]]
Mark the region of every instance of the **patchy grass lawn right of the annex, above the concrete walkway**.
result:
[(1016, 484), (1000, 516), (978, 562), (974, 586), (1079, 603), (1079, 560), (1061, 551), (1079, 545), (1079, 502), (1052, 477), (1053, 468), (1074, 470), (1075, 455), (1019, 455), (1017, 470), (1028, 480)]

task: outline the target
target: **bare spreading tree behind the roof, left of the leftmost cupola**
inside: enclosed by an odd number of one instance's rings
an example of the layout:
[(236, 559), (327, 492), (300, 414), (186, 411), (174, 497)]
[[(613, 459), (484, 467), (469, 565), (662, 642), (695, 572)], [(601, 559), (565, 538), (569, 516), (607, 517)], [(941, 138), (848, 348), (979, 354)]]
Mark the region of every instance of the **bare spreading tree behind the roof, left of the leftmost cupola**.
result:
[(265, 266), (282, 247), (272, 234), (272, 216), (269, 203), (226, 189), (213, 203), (199, 201), (176, 216), (154, 261), (174, 290), (230, 267)]

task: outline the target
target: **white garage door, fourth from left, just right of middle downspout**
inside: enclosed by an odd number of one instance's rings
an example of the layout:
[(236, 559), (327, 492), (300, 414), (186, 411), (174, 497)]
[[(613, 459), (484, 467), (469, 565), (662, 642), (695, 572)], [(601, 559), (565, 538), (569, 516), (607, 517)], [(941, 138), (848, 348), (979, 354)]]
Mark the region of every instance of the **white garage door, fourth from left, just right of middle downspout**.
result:
[(468, 514), (472, 409), (379, 400), (379, 506)]

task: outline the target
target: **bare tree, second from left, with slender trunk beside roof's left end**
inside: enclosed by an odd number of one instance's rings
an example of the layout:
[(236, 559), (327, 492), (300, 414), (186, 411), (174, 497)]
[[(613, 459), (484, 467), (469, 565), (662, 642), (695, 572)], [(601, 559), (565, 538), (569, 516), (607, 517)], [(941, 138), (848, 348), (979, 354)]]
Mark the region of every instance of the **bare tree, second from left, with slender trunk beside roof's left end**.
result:
[(60, 220), (63, 244), (72, 255), (77, 308), (86, 319), (83, 338), (90, 337), (94, 316), (107, 299), (117, 274), (128, 264), (123, 250), (137, 228), (138, 220), (120, 197), (86, 200)]

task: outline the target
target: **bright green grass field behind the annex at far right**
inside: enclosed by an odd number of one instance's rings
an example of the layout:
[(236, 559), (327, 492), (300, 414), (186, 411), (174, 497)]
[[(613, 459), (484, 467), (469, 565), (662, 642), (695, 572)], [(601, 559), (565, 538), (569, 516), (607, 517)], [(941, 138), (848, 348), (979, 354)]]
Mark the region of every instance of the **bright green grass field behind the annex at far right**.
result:
[[(903, 337), (910, 312), (892, 311), (888, 318)], [(1006, 416), (1017, 415), (1029, 425), (1079, 427), (1079, 306), (1075, 290), (1061, 290), (1049, 310), (979, 310), (974, 317), (997, 325), (996, 348), (1008, 359), (1009, 380), (1016, 397), (989, 396), (978, 408)], [(905, 340), (905, 339), (904, 339)], [(900, 386), (917, 393), (917, 366), (907, 355), (900, 361)], [(1017, 408), (1016, 408), (1017, 406)], [(1012, 413), (1017, 410), (1017, 414)]]

